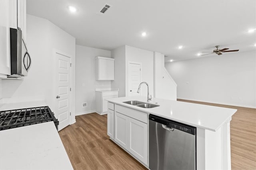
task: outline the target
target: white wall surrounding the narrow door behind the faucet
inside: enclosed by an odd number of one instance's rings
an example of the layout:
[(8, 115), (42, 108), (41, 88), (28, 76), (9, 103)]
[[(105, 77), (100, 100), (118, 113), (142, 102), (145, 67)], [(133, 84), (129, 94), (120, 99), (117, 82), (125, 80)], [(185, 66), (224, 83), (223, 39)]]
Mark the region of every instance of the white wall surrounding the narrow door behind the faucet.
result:
[[(152, 51), (139, 49), (136, 47), (125, 46), (126, 54), (126, 78), (128, 78), (128, 62), (133, 61), (141, 63), (141, 82), (147, 82), (149, 85), (150, 95), (154, 96), (154, 55)], [(142, 85), (141, 96), (148, 95), (148, 88)], [(128, 96), (128, 80), (126, 80), (126, 96)]]

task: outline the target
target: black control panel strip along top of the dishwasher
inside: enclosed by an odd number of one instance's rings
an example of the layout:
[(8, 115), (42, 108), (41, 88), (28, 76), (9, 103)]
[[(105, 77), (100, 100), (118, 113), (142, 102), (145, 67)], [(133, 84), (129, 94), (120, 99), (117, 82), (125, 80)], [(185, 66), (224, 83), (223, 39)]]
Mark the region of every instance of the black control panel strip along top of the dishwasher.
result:
[(163, 125), (166, 125), (167, 127), (170, 128), (174, 128), (174, 129), (178, 129), (180, 131), (184, 131), (186, 133), (190, 133), (192, 135), (196, 134), (196, 127), (190, 126), (190, 125), (186, 125), (184, 123), (180, 123), (180, 122), (176, 122), (176, 121), (172, 121), (163, 117), (159, 117), (156, 115), (149, 115), (149, 120), (161, 123)]

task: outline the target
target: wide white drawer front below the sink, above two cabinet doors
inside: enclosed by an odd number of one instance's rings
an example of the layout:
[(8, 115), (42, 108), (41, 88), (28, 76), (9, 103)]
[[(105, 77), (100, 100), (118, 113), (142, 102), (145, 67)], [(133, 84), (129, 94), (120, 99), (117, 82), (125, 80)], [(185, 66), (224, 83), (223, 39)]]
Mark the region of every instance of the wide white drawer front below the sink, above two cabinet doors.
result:
[(148, 114), (147, 113), (136, 111), (134, 109), (130, 109), (128, 107), (123, 107), (120, 105), (115, 106), (115, 111), (117, 111), (118, 113), (121, 113), (123, 115), (137, 119), (139, 121), (142, 121), (144, 123), (148, 123)]

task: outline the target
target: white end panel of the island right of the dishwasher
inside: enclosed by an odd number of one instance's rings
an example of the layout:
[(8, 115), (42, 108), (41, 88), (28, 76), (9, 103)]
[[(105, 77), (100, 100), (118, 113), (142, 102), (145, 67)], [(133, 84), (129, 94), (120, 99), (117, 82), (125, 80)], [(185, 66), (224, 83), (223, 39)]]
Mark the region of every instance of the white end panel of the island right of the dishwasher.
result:
[(197, 170), (231, 170), (230, 120), (216, 132), (196, 128)]

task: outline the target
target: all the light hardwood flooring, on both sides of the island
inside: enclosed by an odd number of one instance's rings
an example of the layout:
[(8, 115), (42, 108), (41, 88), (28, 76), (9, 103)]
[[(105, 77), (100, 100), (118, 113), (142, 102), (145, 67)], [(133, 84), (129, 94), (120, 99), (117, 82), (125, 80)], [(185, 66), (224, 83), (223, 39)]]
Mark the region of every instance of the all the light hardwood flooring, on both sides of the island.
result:
[[(238, 109), (230, 122), (232, 170), (256, 170), (256, 109), (179, 101)], [(76, 123), (62, 129), (59, 135), (75, 170), (146, 169), (109, 139), (107, 115), (76, 116)]]

